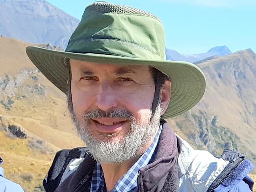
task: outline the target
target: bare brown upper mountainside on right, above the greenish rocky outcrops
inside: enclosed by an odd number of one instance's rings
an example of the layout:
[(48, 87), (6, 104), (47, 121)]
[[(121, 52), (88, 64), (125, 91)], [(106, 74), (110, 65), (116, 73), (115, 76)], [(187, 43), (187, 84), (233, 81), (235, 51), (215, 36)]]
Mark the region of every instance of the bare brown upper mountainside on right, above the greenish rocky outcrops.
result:
[[(252, 148), (256, 144), (256, 54), (247, 49), (198, 64), (208, 88), (198, 109), (218, 116)], [(250, 142), (249, 142), (250, 141)]]

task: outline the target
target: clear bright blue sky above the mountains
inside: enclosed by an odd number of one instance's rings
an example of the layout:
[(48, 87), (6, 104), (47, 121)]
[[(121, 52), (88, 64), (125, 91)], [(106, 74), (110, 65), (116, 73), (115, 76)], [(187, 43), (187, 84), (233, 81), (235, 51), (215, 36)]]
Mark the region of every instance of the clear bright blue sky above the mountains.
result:
[[(48, 0), (81, 18), (93, 0)], [(165, 27), (166, 47), (182, 54), (207, 52), (226, 45), (232, 52), (256, 52), (256, 0), (108, 0), (158, 16)]]

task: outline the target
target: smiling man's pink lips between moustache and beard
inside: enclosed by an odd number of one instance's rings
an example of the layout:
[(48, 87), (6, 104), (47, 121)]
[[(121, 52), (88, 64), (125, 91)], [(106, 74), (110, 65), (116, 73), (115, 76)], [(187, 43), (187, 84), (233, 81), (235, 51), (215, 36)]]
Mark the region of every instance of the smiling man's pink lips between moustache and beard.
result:
[[(95, 124), (95, 127), (97, 131), (100, 131), (102, 133), (113, 133), (120, 131), (124, 124), (128, 122), (128, 120), (122, 119), (122, 118), (96, 118), (92, 119), (93, 123)], [(99, 122), (105, 122), (105, 123), (112, 123), (113, 125), (104, 125), (100, 124)]]

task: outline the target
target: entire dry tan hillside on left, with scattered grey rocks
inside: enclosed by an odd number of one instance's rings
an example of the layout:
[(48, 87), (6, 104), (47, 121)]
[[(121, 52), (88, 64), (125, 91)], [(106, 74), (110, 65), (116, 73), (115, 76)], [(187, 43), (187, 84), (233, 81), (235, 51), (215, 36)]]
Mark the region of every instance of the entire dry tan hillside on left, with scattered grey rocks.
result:
[[(28, 59), (28, 45), (0, 37), (0, 156), (7, 178), (26, 192), (39, 192), (56, 151), (83, 143), (76, 137), (65, 95)], [(25, 139), (9, 131), (13, 125), (21, 127)]]

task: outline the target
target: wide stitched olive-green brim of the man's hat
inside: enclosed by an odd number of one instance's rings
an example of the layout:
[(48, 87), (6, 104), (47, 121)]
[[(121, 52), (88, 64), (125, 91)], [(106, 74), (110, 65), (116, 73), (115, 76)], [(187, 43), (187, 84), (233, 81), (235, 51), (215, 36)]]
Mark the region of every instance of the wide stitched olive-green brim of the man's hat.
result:
[(120, 65), (149, 65), (159, 69), (170, 77), (171, 100), (163, 118), (171, 118), (194, 107), (204, 95), (205, 76), (196, 65), (185, 61), (148, 60), (116, 55), (92, 53), (72, 53), (49, 50), (37, 46), (28, 46), (26, 53), (35, 66), (56, 87), (67, 94), (68, 68), (65, 57), (92, 63), (112, 63)]

